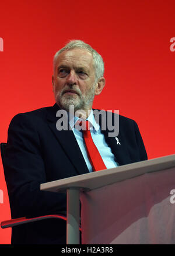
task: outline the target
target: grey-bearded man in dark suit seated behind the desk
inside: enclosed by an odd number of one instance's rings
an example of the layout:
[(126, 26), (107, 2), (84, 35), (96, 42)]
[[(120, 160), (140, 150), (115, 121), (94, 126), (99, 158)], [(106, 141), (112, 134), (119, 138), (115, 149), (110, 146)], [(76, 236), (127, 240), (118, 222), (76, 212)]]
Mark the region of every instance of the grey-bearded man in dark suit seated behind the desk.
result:
[[(119, 133), (113, 137), (108, 136), (108, 128), (102, 129), (103, 117), (95, 119), (92, 104), (104, 88), (103, 72), (103, 60), (92, 47), (80, 40), (71, 41), (54, 57), (55, 105), (13, 117), (5, 153), (12, 218), (65, 213), (66, 195), (40, 191), (40, 184), (96, 171), (83, 130), (75, 126), (79, 118), (71, 117), (70, 106), (79, 111), (81, 120), (89, 120), (103, 169), (147, 159), (134, 120), (120, 116)], [(68, 113), (62, 119), (68, 121), (67, 129), (61, 129), (59, 123), (63, 110)], [(113, 120), (116, 116), (112, 114)], [(65, 243), (63, 220), (42, 220), (12, 229), (12, 244)]]

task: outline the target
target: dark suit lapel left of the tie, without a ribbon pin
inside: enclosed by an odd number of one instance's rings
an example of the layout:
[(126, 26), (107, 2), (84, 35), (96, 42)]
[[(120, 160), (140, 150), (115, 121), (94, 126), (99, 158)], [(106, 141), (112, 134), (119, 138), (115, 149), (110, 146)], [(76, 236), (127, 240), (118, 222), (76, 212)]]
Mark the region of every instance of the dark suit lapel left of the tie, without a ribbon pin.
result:
[(57, 104), (55, 104), (51, 109), (47, 109), (48, 126), (54, 133), (58, 142), (61, 144), (62, 149), (65, 151), (65, 154), (67, 154), (72, 165), (76, 168), (78, 174), (88, 173), (88, 167), (69, 124), (67, 130), (57, 130), (56, 123), (61, 118), (56, 117), (58, 110), (60, 110), (60, 108)]

